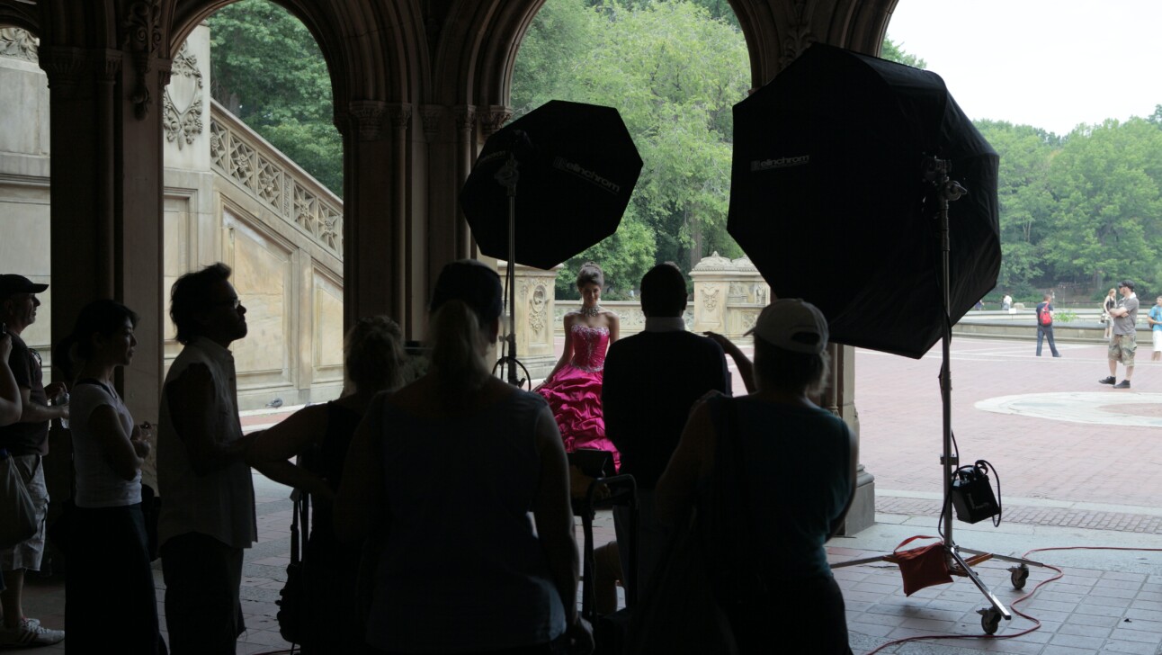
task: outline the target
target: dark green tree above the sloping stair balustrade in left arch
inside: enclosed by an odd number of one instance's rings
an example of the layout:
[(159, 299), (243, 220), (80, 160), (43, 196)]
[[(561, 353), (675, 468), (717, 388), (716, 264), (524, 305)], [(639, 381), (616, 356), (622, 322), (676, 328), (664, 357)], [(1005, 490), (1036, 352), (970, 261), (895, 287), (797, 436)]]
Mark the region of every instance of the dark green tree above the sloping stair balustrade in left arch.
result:
[(241, 0), (207, 23), (214, 99), (342, 195), (343, 140), (331, 122), (331, 79), (307, 27), (266, 0)]

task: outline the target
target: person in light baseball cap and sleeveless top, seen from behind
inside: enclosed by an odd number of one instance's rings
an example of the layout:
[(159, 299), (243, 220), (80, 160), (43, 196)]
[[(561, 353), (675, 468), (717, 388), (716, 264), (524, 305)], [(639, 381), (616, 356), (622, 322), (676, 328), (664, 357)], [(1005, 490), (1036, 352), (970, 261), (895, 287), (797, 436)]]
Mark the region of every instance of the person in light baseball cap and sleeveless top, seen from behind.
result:
[(746, 489), (740, 520), (748, 527), (739, 532), (749, 535), (755, 554), (749, 565), (768, 590), (747, 603), (718, 599), (739, 653), (769, 653), (772, 635), (795, 633), (803, 653), (848, 655), (844, 596), (824, 543), (841, 529), (852, 505), (859, 457), (847, 425), (811, 401), (829, 370), (827, 321), (809, 302), (777, 299), (752, 334), (758, 391), (736, 399), (713, 396), (695, 406), (658, 480), (658, 514), (670, 526), (687, 520), (695, 506), (700, 517), (718, 518), (700, 490), (719, 479), (716, 453), (730, 439), (741, 471), (729, 477), (743, 482), (716, 492)]

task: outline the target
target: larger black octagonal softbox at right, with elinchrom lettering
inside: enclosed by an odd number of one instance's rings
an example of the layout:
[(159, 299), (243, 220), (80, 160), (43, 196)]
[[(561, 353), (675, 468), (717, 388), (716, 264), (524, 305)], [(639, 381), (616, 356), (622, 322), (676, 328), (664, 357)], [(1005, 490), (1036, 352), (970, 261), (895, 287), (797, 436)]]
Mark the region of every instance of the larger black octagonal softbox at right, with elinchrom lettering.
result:
[(996, 285), (999, 158), (935, 73), (812, 45), (734, 106), (727, 229), (832, 341), (921, 357), (945, 320), (930, 156), (968, 190), (949, 205), (955, 322)]

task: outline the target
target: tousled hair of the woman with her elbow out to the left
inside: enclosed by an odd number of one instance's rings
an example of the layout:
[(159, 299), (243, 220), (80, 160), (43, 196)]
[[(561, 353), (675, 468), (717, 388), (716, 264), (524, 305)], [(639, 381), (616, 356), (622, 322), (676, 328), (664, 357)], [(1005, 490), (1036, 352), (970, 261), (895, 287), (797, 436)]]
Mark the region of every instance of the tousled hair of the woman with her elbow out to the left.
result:
[(359, 319), (343, 339), (347, 379), (365, 392), (394, 390), (402, 383), (403, 330), (380, 314)]

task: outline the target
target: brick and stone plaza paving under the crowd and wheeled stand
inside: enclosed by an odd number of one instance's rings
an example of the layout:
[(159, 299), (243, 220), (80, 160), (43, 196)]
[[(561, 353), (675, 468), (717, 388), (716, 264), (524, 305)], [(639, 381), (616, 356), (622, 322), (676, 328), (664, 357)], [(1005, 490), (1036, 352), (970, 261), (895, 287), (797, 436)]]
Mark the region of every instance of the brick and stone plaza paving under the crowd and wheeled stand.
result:
[[(956, 522), (962, 547), (1019, 556), (1035, 548), (1113, 547), (1136, 550), (1050, 550), (1031, 555), (1064, 570), (1018, 608), (1041, 628), (1011, 639), (984, 639), (976, 611), (987, 603), (970, 582), (904, 597), (894, 565), (878, 562), (837, 569), (848, 608), (855, 653), (916, 635), (962, 636), (889, 646), (881, 653), (980, 655), (1017, 653), (1085, 655), (1162, 654), (1162, 433), (1148, 422), (1160, 415), (1162, 365), (1148, 348), (1134, 387), (1097, 384), (1106, 375), (1103, 346), (1061, 344), (1063, 357), (1037, 358), (1030, 342), (957, 339), (953, 347), (953, 426), (961, 458), (987, 460), (999, 472), (1004, 522), (994, 527)], [(1046, 355), (1048, 351), (1046, 350)], [(914, 534), (935, 534), (940, 492), (940, 400), (937, 350), (918, 361), (860, 350), (856, 407), (861, 460), (876, 477), (877, 525), (829, 543), (833, 562), (891, 550)], [(1120, 371), (1119, 371), (1120, 379)], [(736, 389), (741, 390), (736, 379)], [(1073, 403), (1068, 394), (1085, 394)], [(1046, 397), (1045, 394), (1066, 394)], [(999, 401), (995, 399), (1007, 398)], [(1128, 399), (1128, 400), (1127, 400)], [(1085, 408), (1078, 410), (1082, 405)], [(1120, 418), (1138, 417), (1145, 422)], [(249, 425), (278, 420), (250, 417)], [(1135, 419), (1135, 421), (1139, 419)], [(256, 475), (259, 543), (246, 553), (243, 607), (250, 629), (239, 653), (285, 649), (274, 600), (288, 558), (290, 503), (286, 489)], [(580, 531), (579, 531), (580, 536)], [(608, 514), (598, 517), (596, 541), (611, 540)], [(977, 571), (1002, 601), (1021, 593), (1009, 584), (1010, 564), (989, 561)], [(1033, 568), (1025, 592), (1055, 571)], [(160, 571), (156, 574), (160, 599)], [(33, 582), (29, 615), (63, 626), (64, 592), (57, 582)], [(159, 608), (164, 607), (159, 604)], [(1014, 615), (998, 636), (1034, 624)], [(794, 636), (788, 635), (788, 643)], [(794, 647), (789, 650), (796, 652)], [(63, 652), (63, 647), (42, 652)]]

